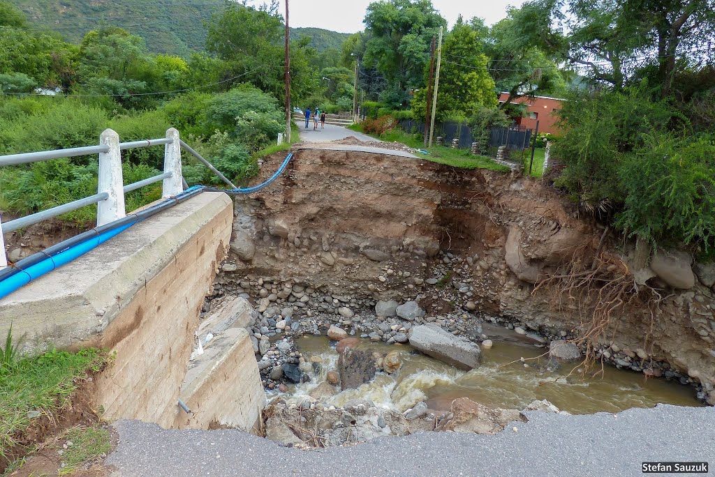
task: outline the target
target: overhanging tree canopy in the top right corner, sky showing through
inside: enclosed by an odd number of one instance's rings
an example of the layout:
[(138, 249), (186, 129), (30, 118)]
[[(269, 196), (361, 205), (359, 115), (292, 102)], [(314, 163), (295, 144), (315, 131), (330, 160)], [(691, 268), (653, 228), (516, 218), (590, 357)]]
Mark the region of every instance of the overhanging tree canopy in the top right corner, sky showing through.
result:
[(666, 98), (680, 69), (713, 61), (715, 0), (533, 0), (518, 12), (529, 44), (616, 91), (646, 78)]

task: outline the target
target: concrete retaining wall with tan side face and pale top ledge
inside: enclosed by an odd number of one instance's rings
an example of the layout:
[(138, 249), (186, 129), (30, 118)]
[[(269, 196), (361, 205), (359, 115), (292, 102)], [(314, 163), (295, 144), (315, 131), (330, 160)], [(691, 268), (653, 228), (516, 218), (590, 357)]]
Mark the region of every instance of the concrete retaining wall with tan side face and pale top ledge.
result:
[[(0, 300), (0, 335), (12, 321), (14, 335), (26, 334), (34, 349), (109, 348), (116, 361), (97, 382), (105, 417), (172, 426), (199, 311), (232, 221), (231, 200), (217, 193), (157, 214)], [(256, 367), (249, 340), (236, 349), (227, 369), (246, 349)]]

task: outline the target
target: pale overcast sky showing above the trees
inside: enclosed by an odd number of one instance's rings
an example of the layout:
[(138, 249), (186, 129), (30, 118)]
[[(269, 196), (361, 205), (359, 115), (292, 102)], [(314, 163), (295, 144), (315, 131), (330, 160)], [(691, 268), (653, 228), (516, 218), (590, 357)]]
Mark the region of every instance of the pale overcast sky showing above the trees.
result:
[[(363, 19), (370, 3), (370, 0), (290, 0), (290, 26), (355, 33), (365, 29)], [(459, 14), (465, 19), (480, 16), (490, 25), (506, 16), (508, 5), (521, 6), (523, 0), (432, 0), (432, 3), (450, 26)], [(284, 0), (280, 1), (280, 8), (283, 14)]]

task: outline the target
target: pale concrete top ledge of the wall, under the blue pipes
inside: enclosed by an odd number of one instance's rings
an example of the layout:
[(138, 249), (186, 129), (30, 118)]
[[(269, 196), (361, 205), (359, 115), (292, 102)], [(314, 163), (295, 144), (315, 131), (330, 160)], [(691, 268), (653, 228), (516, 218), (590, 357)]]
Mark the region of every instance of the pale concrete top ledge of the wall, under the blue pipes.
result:
[[(147, 281), (221, 214), (230, 214), (227, 217), (232, 219), (232, 201), (226, 194), (199, 194), (32, 281), (0, 300), (0, 335), (12, 322), (14, 336), (26, 335), (26, 348), (79, 348), (96, 343)], [(227, 236), (225, 245), (231, 224), (226, 227), (212, 231)], [(216, 251), (210, 256), (215, 261)], [(195, 265), (211, 266), (211, 261)]]

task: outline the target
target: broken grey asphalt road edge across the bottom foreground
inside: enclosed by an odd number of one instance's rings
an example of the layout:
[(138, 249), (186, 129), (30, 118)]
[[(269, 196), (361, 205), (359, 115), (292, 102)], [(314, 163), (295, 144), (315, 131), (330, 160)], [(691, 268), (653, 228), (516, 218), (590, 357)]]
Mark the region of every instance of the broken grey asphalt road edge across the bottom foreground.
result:
[[(117, 476), (641, 476), (644, 461), (710, 461), (715, 408), (658, 406), (617, 415), (528, 413), (496, 436), (418, 433), (298, 451), (240, 431), (166, 431), (120, 421)], [(669, 475), (669, 474), (659, 474)], [(685, 474), (680, 474), (685, 475)], [(692, 475), (692, 474), (688, 474)], [(704, 475), (704, 474), (699, 474)]]

